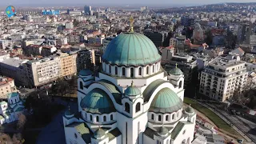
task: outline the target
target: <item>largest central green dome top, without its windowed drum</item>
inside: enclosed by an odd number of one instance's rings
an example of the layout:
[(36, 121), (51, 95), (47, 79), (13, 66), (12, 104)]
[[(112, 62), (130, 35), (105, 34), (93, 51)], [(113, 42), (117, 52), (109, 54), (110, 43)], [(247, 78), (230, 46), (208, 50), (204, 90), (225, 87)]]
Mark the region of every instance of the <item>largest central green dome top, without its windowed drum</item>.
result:
[(119, 34), (102, 55), (103, 62), (119, 66), (146, 66), (160, 60), (161, 56), (150, 38), (138, 33)]

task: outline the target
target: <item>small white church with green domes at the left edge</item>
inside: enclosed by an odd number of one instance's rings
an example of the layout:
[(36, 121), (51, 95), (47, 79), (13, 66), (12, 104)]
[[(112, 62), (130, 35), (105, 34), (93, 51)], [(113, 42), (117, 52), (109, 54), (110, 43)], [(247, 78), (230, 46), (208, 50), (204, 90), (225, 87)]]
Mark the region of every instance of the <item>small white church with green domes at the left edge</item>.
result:
[(8, 102), (0, 102), (0, 124), (10, 123), (18, 120), (18, 115), (25, 108), (18, 93), (10, 93), (7, 97)]

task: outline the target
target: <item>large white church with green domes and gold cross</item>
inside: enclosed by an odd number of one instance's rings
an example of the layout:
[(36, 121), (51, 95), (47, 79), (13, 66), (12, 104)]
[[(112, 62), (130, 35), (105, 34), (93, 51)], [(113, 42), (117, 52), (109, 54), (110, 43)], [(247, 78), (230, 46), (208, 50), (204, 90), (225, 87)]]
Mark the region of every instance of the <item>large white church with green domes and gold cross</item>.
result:
[(166, 73), (143, 34), (119, 34), (102, 55), (102, 69), (78, 74), (78, 112), (63, 116), (68, 144), (190, 144), (196, 114), (182, 109), (184, 75)]

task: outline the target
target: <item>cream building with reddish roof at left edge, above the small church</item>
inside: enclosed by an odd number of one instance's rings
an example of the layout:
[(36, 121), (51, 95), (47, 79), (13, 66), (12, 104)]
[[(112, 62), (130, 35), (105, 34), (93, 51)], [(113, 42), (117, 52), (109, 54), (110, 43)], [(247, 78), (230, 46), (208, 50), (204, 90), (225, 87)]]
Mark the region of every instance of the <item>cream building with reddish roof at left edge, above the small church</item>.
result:
[(0, 77), (0, 98), (7, 98), (7, 95), (16, 92), (13, 78)]

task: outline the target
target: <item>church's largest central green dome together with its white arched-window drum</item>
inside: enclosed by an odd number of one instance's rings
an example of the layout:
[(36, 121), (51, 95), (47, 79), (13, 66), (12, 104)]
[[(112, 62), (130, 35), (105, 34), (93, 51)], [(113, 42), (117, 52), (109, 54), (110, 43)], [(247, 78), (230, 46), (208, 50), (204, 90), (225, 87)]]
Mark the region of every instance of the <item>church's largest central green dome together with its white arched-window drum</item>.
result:
[(157, 48), (145, 35), (123, 33), (106, 47), (102, 70), (118, 77), (147, 77), (161, 70), (160, 60)]

